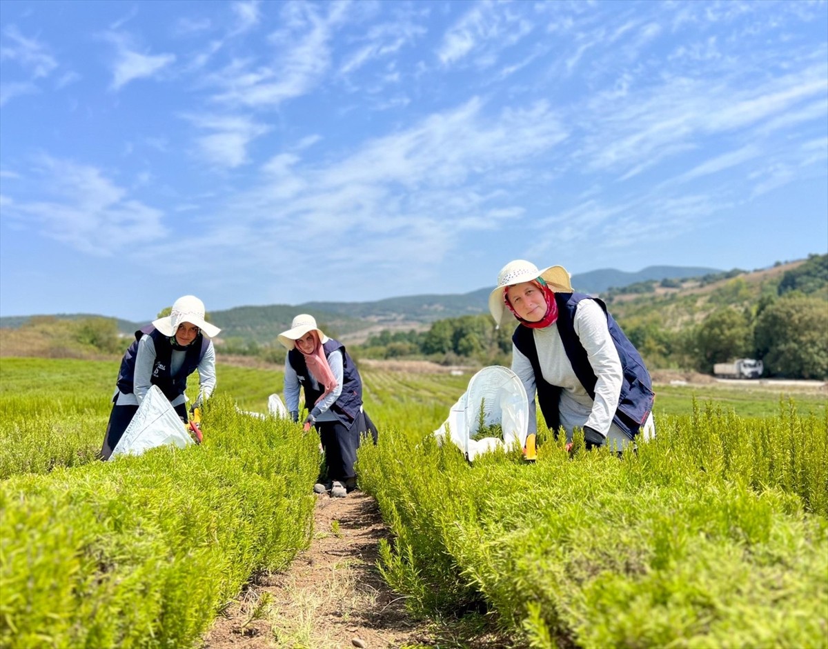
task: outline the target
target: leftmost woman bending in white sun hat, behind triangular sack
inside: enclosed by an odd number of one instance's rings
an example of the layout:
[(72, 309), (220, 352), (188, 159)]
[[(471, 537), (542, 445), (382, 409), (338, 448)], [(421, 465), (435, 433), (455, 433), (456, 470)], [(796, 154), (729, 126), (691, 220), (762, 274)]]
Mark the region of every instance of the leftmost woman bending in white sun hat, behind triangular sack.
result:
[(112, 454), (151, 386), (161, 389), (184, 421), (187, 377), (196, 370), (200, 384), (196, 404), (209, 398), (215, 389), (215, 350), (210, 339), (219, 331), (205, 320), (204, 302), (183, 296), (172, 305), (170, 315), (135, 332), (135, 341), (121, 360), (101, 459)]

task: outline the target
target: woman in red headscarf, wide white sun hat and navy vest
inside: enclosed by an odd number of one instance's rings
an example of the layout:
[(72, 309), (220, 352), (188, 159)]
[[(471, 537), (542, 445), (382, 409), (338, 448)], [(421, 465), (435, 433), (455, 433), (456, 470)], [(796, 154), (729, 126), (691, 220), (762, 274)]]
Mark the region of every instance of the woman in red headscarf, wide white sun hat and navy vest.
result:
[[(489, 295), (498, 326), (517, 323), (512, 370), (535, 412), (535, 394), (546, 425), (566, 440), (583, 428), (588, 448), (623, 449), (655, 435), (652, 381), (643, 359), (598, 298), (572, 290), (561, 266), (538, 270), (517, 259), (498, 274)], [(537, 429), (530, 417), (529, 433)]]

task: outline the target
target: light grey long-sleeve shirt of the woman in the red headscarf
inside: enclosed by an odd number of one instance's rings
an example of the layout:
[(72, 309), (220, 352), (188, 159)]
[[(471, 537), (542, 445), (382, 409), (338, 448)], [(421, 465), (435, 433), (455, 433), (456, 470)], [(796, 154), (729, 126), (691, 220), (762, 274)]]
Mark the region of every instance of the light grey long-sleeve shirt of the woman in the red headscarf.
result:
[[(566, 356), (557, 323), (543, 329), (532, 329), (544, 381), (563, 388), (559, 413), (561, 425), (566, 430), (566, 439), (572, 439), (572, 431), (576, 426), (588, 425), (607, 435), (610, 443), (617, 440), (619, 445), (626, 445), (629, 438), (623, 430), (613, 424), (621, 395), (623, 370), (618, 350), (615, 349), (612, 336), (609, 334), (607, 316), (595, 300), (581, 300), (575, 309), (573, 326), (597, 378), (595, 399), (590, 397), (578, 380), (572, 363)], [(512, 353), (512, 371), (522, 381), (529, 400), (529, 432), (535, 433), (535, 373), (532, 363), (517, 347), (513, 346)]]

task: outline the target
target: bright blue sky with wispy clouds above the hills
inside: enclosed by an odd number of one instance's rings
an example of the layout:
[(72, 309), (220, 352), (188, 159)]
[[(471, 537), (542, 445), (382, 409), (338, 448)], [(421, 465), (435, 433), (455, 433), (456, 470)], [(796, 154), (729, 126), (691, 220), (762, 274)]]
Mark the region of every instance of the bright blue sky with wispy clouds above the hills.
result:
[(811, 252), (826, 2), (0, 3), (0, 315)]

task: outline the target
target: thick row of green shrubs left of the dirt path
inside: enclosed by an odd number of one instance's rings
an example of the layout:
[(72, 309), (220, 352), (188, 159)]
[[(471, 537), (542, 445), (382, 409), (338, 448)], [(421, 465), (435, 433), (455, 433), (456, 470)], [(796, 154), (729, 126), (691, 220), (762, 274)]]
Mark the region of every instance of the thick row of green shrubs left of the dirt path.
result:
[(317, 440), (220, 397), (204, 427), (201, 446), (2, 483), (0, 646), (192, 646), (307, 546)]

